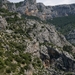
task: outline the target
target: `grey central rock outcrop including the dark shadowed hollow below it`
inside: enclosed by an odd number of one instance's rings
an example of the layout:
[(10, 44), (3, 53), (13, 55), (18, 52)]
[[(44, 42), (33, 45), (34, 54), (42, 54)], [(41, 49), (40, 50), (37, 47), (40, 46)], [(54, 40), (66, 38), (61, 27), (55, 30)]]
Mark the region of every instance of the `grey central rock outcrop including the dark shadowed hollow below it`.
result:
[[(62, 71), (75, 71), (73, 56), (62, 49), (64, 45), (72, 45), (66, 41), (63, 35), (58, 33), (54, 26), (35, 20), (27, 20), (26, 29), (30, 29), (27, 33), (32, 38), (32, 42), (27, 41), (30, 44), (28, 44), (25, 52), (41, 58), (49, 74), (63, 75)], [(55, 71), (55, 68), (58, 71)]]

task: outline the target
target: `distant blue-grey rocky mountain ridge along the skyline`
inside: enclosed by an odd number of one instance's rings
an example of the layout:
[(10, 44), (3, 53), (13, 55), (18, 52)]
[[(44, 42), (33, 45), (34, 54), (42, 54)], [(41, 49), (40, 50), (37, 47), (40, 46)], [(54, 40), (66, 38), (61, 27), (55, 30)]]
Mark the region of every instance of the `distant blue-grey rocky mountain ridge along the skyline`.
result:
[(19, 3), (8, 3), (4, 1), (4, 3), (7, 3), (10, 11), (20, 12), (29, 16), (37, 16), (42, 20), (75, 14), (75, 4), (45, 6), (43, 3), (36, 3), (36, 0), (24, 0)]

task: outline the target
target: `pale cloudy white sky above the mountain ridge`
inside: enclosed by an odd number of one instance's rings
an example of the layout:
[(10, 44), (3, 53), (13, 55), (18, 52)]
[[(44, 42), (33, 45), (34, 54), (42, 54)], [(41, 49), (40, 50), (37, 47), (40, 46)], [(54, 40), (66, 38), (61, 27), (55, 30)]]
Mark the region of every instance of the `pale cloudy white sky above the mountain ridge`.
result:
[[(24, 0), (9, 0), (10, 2), (20, 2)], [(55, 6), (61, 4), (72, 4), (75, 3), (75, 0), (37, 0), (37, 2), (42, 2), (45, 5)]]

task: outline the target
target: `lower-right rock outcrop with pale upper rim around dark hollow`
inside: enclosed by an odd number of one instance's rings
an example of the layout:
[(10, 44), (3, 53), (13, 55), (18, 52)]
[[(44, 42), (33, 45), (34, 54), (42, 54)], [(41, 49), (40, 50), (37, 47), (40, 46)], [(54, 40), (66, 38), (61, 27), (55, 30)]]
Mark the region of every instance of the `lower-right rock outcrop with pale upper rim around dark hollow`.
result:
[[(41, 46), (42, 48), (40, 55), (41, 59), (44, 62), (45, 67), (48, 69), (51, 75), (63, 75), (60, 70), (65, 72), (74, 72), (75, 71), (75, 60), (73, 57), (65, 51), (59, 51), (58, 49), (51, 48), (49, 46)], [(56, 71), (51, 71), (50, 68), (56, 68)], [(59, 71), (57, 71), (59, 69)], [(75, 73), (74, 73), (75, 74)]]

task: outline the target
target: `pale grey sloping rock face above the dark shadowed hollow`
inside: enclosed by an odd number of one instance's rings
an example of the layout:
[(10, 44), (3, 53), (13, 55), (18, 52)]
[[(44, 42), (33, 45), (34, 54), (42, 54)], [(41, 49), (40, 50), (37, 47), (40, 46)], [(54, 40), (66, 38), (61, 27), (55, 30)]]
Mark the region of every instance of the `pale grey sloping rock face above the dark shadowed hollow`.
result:
[[(53, 43), (59, 47), (63, 47), (64, 45), (70, 45), (69, 42), (66, 41), (65, 37), (60, 34), (54, 26), (39, 23), (37, 21), (28, 21), (27, 22), (29, 28), (36, 26), (35, 29), (29, 33), (32, 38), (37, 39), (40, 43), (49, 42)], [(34, 36), (34, 35), (35, 36)]]

